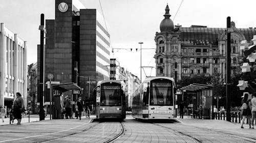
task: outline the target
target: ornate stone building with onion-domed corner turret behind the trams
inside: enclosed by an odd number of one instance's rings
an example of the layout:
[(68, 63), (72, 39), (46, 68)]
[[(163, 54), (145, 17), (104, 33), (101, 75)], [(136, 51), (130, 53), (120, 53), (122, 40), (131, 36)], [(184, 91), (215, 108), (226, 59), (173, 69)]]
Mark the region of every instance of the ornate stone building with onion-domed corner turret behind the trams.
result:
[[(156, 33), (156, 75), (175, 77), (221, 73), (226, 74), (226, 28), (208, 28), (207, 26), (191, 25), (182, 27), (174, 25), (169, 18), (168, 5), (164, 19), (160, 24), (160, 33)], [(251, 42), (256, 35), (256, 28), (236, 28), (231, 22), (231, 74), (236, 72), (243, 58), (240, 42)], [(252, 43), (250, 43), (252, 44)], [(176, 66), (175, 66), (176, 65)]]

